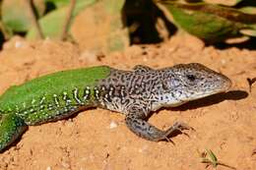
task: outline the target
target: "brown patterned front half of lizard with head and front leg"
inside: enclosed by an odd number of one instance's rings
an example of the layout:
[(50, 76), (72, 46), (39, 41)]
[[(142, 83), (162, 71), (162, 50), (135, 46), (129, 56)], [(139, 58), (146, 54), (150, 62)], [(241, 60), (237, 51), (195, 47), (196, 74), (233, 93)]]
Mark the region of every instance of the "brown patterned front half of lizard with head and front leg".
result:
[(175, 131), (190, 127), (175, 122), (166, 131), (161, 131), (146, 121), (151, 111), (222, 92), (230, 85), (224, 75), (201, 64), (160, 70), (139, 65), (133, 71), (113, 69), (108, 78), (98, 83), (98, 88), (104, 89), (98, 101), (103, 108), (124, 113), (127, 127), (136, 135), (150, 141), (168, 141)]

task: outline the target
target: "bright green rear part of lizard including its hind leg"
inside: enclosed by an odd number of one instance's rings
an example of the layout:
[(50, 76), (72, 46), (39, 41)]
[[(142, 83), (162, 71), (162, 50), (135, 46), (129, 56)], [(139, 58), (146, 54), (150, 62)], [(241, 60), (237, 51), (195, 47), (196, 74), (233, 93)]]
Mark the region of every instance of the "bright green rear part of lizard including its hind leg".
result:
[[(102, 66), (58, 72), (34, 79), (24, 85), (11, 86), (0, 97), (0, 150), (20, 137), (28, 129), (28, 125), (56, 121), (77, 112), (75, 108), (74, 111), (70, 111), (73, 107), (78, 107), (74, 97), (70, 97), (70, 108), (67, 112), (60, 113), (66, 108), (65, 101), (61, 100), (63, 92), (67, 92), (67, 96), (72, 96), (75, 88), (95, 86), (97, 81), (105, 79), (109, 74), (110, 68)], [(55, 94), (60, 96), (59, 107), (54, 106)], [(94, 90), (92, 94), (85, 107), (95, 105)], [(52, 109), (49, 109), (50, 104)]]

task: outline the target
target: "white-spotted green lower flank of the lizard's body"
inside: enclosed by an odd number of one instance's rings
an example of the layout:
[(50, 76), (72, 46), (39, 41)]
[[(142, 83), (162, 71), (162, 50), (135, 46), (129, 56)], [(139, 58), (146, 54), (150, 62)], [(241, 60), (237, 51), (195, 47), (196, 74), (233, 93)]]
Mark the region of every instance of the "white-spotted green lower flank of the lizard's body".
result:
[(61, 94), (45, 94), (38, 103), (32, 99), (31, 104), (25, 103), (24, 108), (17, 108), (16, 114), (25, 119), (28, 125), (60, 120), (94, 106), (94, 102), (91, 101), (92, 98), (95, 98), (91, 96), (94, 93), (92, 90), (93, 87), (85, 86), (84, 89), (75, 87), (73, 90), (63, 91)]

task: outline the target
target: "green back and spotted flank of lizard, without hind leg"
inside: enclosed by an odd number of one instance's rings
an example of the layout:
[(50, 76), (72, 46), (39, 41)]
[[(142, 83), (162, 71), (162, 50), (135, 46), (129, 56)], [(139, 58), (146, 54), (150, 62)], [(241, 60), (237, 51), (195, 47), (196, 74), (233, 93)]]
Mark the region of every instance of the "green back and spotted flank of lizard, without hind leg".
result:
[(58, 72), (11, 86), (0, 97), (0, 113), (15, 113), (28, 125), (68, 117), (96, 105), (94, 87), (109, 73), (109, 67), (99, 66)]

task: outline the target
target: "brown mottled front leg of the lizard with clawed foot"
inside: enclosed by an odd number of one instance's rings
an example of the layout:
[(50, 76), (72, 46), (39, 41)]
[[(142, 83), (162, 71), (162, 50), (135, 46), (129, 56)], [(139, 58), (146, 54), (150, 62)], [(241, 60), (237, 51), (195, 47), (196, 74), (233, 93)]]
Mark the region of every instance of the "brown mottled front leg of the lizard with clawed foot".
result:
[(154, 142), (166, 140), (169, 142), (168, 138), (174, 135), (177, 131), (181, 132), (183, 130), (191, 129), (189, 126), (182, 122), (175, 122), (166, 131), (161, 131), (146, 121), (148, 114), (149, 112), (147, 112), (143, 107), (132, 105), (129, 107), (128, 113), (125, 117), (125, 123), (127, 127), (133, 133), (146, 140)]

